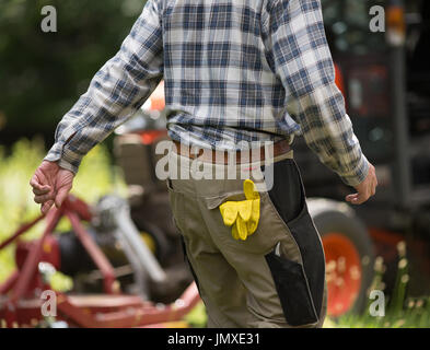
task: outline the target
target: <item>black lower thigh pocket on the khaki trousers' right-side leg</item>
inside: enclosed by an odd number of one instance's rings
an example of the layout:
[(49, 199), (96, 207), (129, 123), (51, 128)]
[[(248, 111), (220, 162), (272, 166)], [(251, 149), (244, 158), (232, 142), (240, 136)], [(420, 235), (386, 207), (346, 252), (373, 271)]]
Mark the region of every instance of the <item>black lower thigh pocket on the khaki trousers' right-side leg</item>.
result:
[(311, 300), (302, 266), (281, 258), (274, 252), (266, 255), (266, 261), (274, 277), (287, 322), (291, 326), (317, 323), (318, 317)]

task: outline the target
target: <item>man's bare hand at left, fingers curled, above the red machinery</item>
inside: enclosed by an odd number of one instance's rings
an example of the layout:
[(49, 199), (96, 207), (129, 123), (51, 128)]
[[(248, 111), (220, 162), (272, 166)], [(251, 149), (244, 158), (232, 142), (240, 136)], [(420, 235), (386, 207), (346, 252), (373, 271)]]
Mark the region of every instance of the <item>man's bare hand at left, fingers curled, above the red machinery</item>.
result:
[(43, 161), (34, 173), (30, 185), (33, 187), (34, 201), (40, 205), (40, 211), (46, 214), (55, 203), (60, 208), (72, 188), (74, 174), (57, 163)]

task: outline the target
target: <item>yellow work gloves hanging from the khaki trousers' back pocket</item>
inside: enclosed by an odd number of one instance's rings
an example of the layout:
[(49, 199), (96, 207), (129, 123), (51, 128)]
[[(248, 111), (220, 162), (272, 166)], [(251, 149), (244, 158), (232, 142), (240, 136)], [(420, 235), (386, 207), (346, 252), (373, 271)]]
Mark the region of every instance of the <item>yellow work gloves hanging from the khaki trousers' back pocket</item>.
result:
[(234, 240), (245, 241), (257, 230), (259, 221), (259, 194), (251, 179), (243, 183), (246, 200), (226, 201), (220, 206), (226, 226), (232, 226)]

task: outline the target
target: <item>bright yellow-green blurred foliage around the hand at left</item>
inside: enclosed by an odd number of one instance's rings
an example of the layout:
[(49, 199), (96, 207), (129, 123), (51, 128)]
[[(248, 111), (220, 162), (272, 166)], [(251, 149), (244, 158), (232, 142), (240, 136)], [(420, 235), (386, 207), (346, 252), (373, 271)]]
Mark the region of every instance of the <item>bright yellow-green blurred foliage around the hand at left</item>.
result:
[[(12, 154), (4, 155), (0, 147), (0, 242), (14, 233), (24, 222), (39, 214), (39, 206), (33, 201), (33, 192), (28, 185), (36, 167), (40, 164), (46, 151), (39, 139), (28, 141), (22, 139), (13, 145)], [(112, 167), (105, 147), (95, 147), (82, 161), (80, 172), (74, 182), (72, 194), (94, 203), (108, 192), (126, 196), (127, 187), (119, 172)], [(62, 219), (56, 231), (67, 231), (70, 224)], [(44, 230), (44, 221), (36, 224), (23, 237), (36, 238)], [(0, 252), (0, 283), (14, 269), (14, 247)], [(56, 280), (66, 287), (61, 279)]]

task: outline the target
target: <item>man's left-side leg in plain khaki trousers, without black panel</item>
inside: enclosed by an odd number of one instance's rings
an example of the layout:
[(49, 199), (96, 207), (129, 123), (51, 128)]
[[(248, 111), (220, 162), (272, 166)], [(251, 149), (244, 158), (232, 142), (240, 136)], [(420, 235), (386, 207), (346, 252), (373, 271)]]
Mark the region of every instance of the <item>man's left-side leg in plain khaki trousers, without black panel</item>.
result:
[(184, 253), (206, 306), (208, 327), (246, 327), (249, 314), (243, 283), (213, 244), (194, 196), (181, 191), (184, 182), (173, 183), (170, 185), (172, 210), (183, 235)]

